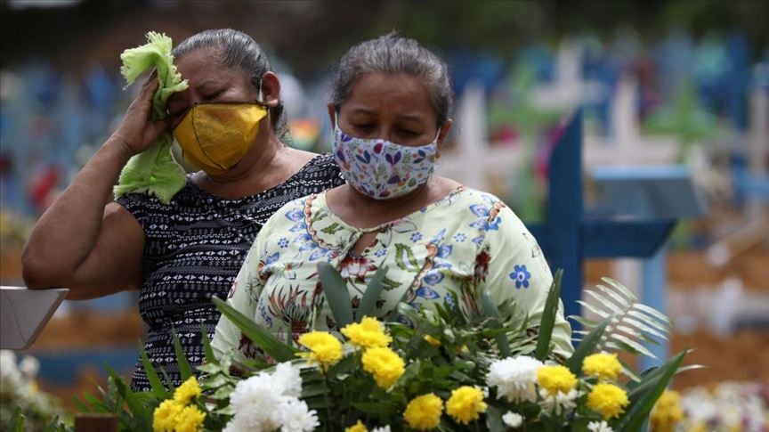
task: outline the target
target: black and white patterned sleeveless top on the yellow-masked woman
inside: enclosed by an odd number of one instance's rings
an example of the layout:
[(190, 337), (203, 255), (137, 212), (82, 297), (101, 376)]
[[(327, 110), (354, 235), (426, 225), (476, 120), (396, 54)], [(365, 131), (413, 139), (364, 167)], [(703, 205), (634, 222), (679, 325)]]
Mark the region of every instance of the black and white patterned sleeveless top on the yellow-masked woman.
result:
[[(286, 182), (239, 200), (225, 200), (187, 184), (166, 205), (146, 194), (117, 200), (142, 224), (144, 282), (139, 311), (149, 326), (144, 350), (150, 362), (181, 384), (171, 331), (187, 359), (199, 365), (205, 357), (200, 332), (214, 335), (219, 311), (211, 296), (227, 298), (248, 249), (267, 219), (291, 200), (344, 183), (330, 154), (315, 157)], [(150, 389), (141, 358), (131, 387)]]

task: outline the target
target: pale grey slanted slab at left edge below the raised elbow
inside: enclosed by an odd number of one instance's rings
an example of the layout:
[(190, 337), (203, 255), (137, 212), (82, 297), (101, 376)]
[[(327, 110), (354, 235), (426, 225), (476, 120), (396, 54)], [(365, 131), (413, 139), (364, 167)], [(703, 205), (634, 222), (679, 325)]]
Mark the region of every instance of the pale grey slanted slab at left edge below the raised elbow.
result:
[(69, 289), (0, 287), (0, 349), (27, 349)]

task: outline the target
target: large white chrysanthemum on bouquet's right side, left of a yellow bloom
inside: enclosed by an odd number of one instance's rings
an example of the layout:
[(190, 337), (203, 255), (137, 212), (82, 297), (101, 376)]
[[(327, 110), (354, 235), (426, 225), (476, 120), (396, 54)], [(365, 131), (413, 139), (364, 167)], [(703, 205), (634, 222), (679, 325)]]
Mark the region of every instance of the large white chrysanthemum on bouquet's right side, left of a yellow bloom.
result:
[(506, 396), (510, 402), (537, 400), (537, 371), (542, 362), (527, 355), (507, 357), (491, 363), (486, 382), (497, 387), (497, 398)]

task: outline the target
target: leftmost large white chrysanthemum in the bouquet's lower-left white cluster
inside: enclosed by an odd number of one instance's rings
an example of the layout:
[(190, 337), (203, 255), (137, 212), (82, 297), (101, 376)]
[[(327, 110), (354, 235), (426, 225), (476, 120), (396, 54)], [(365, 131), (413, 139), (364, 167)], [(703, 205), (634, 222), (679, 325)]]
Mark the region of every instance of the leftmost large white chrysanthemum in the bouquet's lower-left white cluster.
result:
[(230, 395), (235, 411), (230, 430), (240, 430), (238, 426), (255, 430), (279, 428), (279, 405), (286, 400), (283, 390), (283, 386), (265, 372), (240, 381)]

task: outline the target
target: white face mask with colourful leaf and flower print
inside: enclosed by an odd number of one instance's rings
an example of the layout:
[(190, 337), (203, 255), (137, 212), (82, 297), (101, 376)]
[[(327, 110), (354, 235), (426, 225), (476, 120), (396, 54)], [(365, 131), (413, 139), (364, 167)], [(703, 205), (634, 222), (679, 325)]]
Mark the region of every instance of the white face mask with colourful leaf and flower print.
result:
[[(375, 200), (392, 200), (425, 184), (435, 171), (438, 134), (432, 143), (409, 147), (345, 134), (336, 126), (334, 159), (356, 191)], [(439, 131), (440, 134), (440, 131)]]

